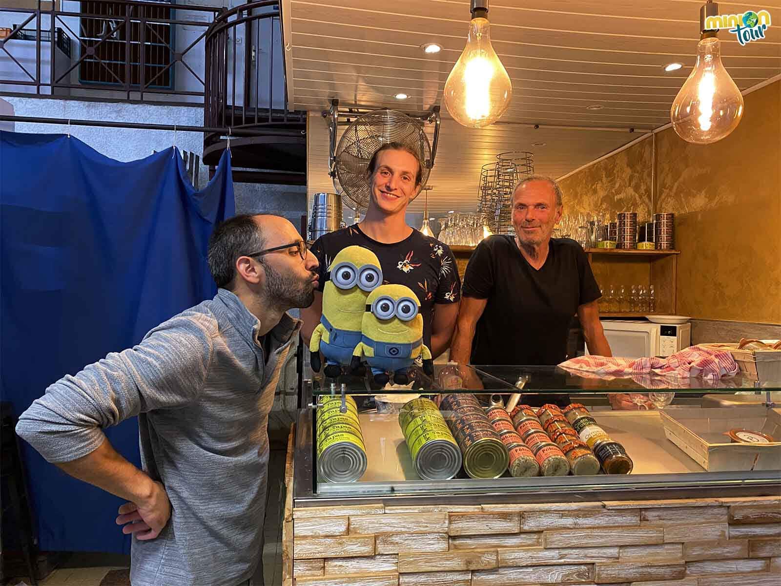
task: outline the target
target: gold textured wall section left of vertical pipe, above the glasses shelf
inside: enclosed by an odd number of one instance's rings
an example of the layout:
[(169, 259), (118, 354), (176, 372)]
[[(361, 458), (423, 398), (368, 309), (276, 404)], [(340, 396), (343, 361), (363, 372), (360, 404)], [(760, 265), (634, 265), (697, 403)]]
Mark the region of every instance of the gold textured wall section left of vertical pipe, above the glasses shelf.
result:
[(615, 220), (618, 212), (637, 212), (638, 222), (650, 220), (651, 160), (649, 137), (565, 177), (564, 213), (607, 210)]

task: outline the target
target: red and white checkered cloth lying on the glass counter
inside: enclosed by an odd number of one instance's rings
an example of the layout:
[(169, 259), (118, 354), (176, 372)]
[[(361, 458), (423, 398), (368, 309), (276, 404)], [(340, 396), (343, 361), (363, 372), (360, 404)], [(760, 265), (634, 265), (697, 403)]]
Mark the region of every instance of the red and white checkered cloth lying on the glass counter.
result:
[(667, 358), (608, 358), (605, 356), (578, 356), (559, 364), (567, 370), (632, 377), (639, 374), (657, 374), (662, 377), (711, 378), (733, 377), (737, 363), (725, 350), (690, 346)]

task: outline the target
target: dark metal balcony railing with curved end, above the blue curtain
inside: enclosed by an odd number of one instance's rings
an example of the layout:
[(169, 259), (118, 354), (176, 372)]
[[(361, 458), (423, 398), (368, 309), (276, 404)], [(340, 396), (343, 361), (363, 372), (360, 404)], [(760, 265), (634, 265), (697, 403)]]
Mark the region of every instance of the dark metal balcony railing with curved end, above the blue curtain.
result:
[[(231, 10), (166, 0), (89, 0), (80, 2), (78, 11), (58, 9), (56, 2), (47, 2), (49, 8), (42, 4), (38, 0), (34, 9), (0, 6), (0, 18), (6, 23), (0, 27), (12, 27), (0, 38), (0, 59), (7, 60), (0, 70), (0, 91), (33, 95), (34, 88), (35, 95), (73, 94), (127, 102), (144, 102), (152, 96), (170, 102), (179, 97), (179, 102), (205, 105), (207, 127), (239, 126), (235, 114), (239, 105), (241, 125), (248, 123), (248, 116), (259, 124), (280, 117), (284, 121), (291, 115), (284, 99), (284, 67), (275, 67), (273, 59), (274, 52), (279, 57), (283, 50), (279, 0)], [(9, 20), (15, 23), (7, 24)], [(272, 24), (266, 29), (270, 30), (263, 34), (262, 23), (269, 21)], [(243, 36), (237, 37), (240, 27)], [(51, 38), (57, 42), (50, 42)], [(259, 55), (266, 52), (272, 56), (262, 71)], [(154, 63), (152, 53), (157, 58)], [(30, 66), (33, 55), (34, 68)], [(87, 65), (92, 80), (85, 79)], [(273, 79), (275, 69), (279, 80)], [(275, 89), (280, 80), (281, 88)], [(238, 100), (237, 91), (244, 92)], [(280, 107), (274, 108), (279, 98)], [(298, 120), (300, 115), (293, 117)], [(218, 118), (225, 123), (214, 123)]]

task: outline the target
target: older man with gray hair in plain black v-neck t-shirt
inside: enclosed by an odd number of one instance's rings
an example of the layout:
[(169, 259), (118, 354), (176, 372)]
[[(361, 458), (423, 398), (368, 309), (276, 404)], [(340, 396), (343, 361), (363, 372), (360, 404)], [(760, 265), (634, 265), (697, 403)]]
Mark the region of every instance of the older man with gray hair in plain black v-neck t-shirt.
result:
[(527, 177), (515, 186), (515, 237), (486, 238), (466, 267), (452, 360), (561, 363), (576, 314), (590, 352), (611, 356), (597, 309), (601, 293), (586, 252), (574, 240), (551, 238), (562, 209), (562, 189), (549, 177)]

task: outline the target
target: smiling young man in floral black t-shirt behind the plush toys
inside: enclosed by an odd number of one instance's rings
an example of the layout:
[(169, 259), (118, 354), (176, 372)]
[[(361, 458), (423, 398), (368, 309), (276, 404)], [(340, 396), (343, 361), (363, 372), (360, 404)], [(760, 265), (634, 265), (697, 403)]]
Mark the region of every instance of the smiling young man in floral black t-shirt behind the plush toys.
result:
[(312, 245), (320, 273), (315, 302), (301, 310), (301, 336), (307, 345), (323, 314), (322, 291), (333, 257), (346, 246), (360, 245), (380, 259), (385, 283), (415, 291), (423, 316), (423, 343), (432, 355), (436, 358), (450, 347), (461, 298), (455, 257), (447, 245), (405, 223), (407, 205), (423, 187), (421, 169), (419, 156), (406, 145), (389, 143), (377, 149), (369, 162), (372, 196), (364, 219), (325, 234)]

